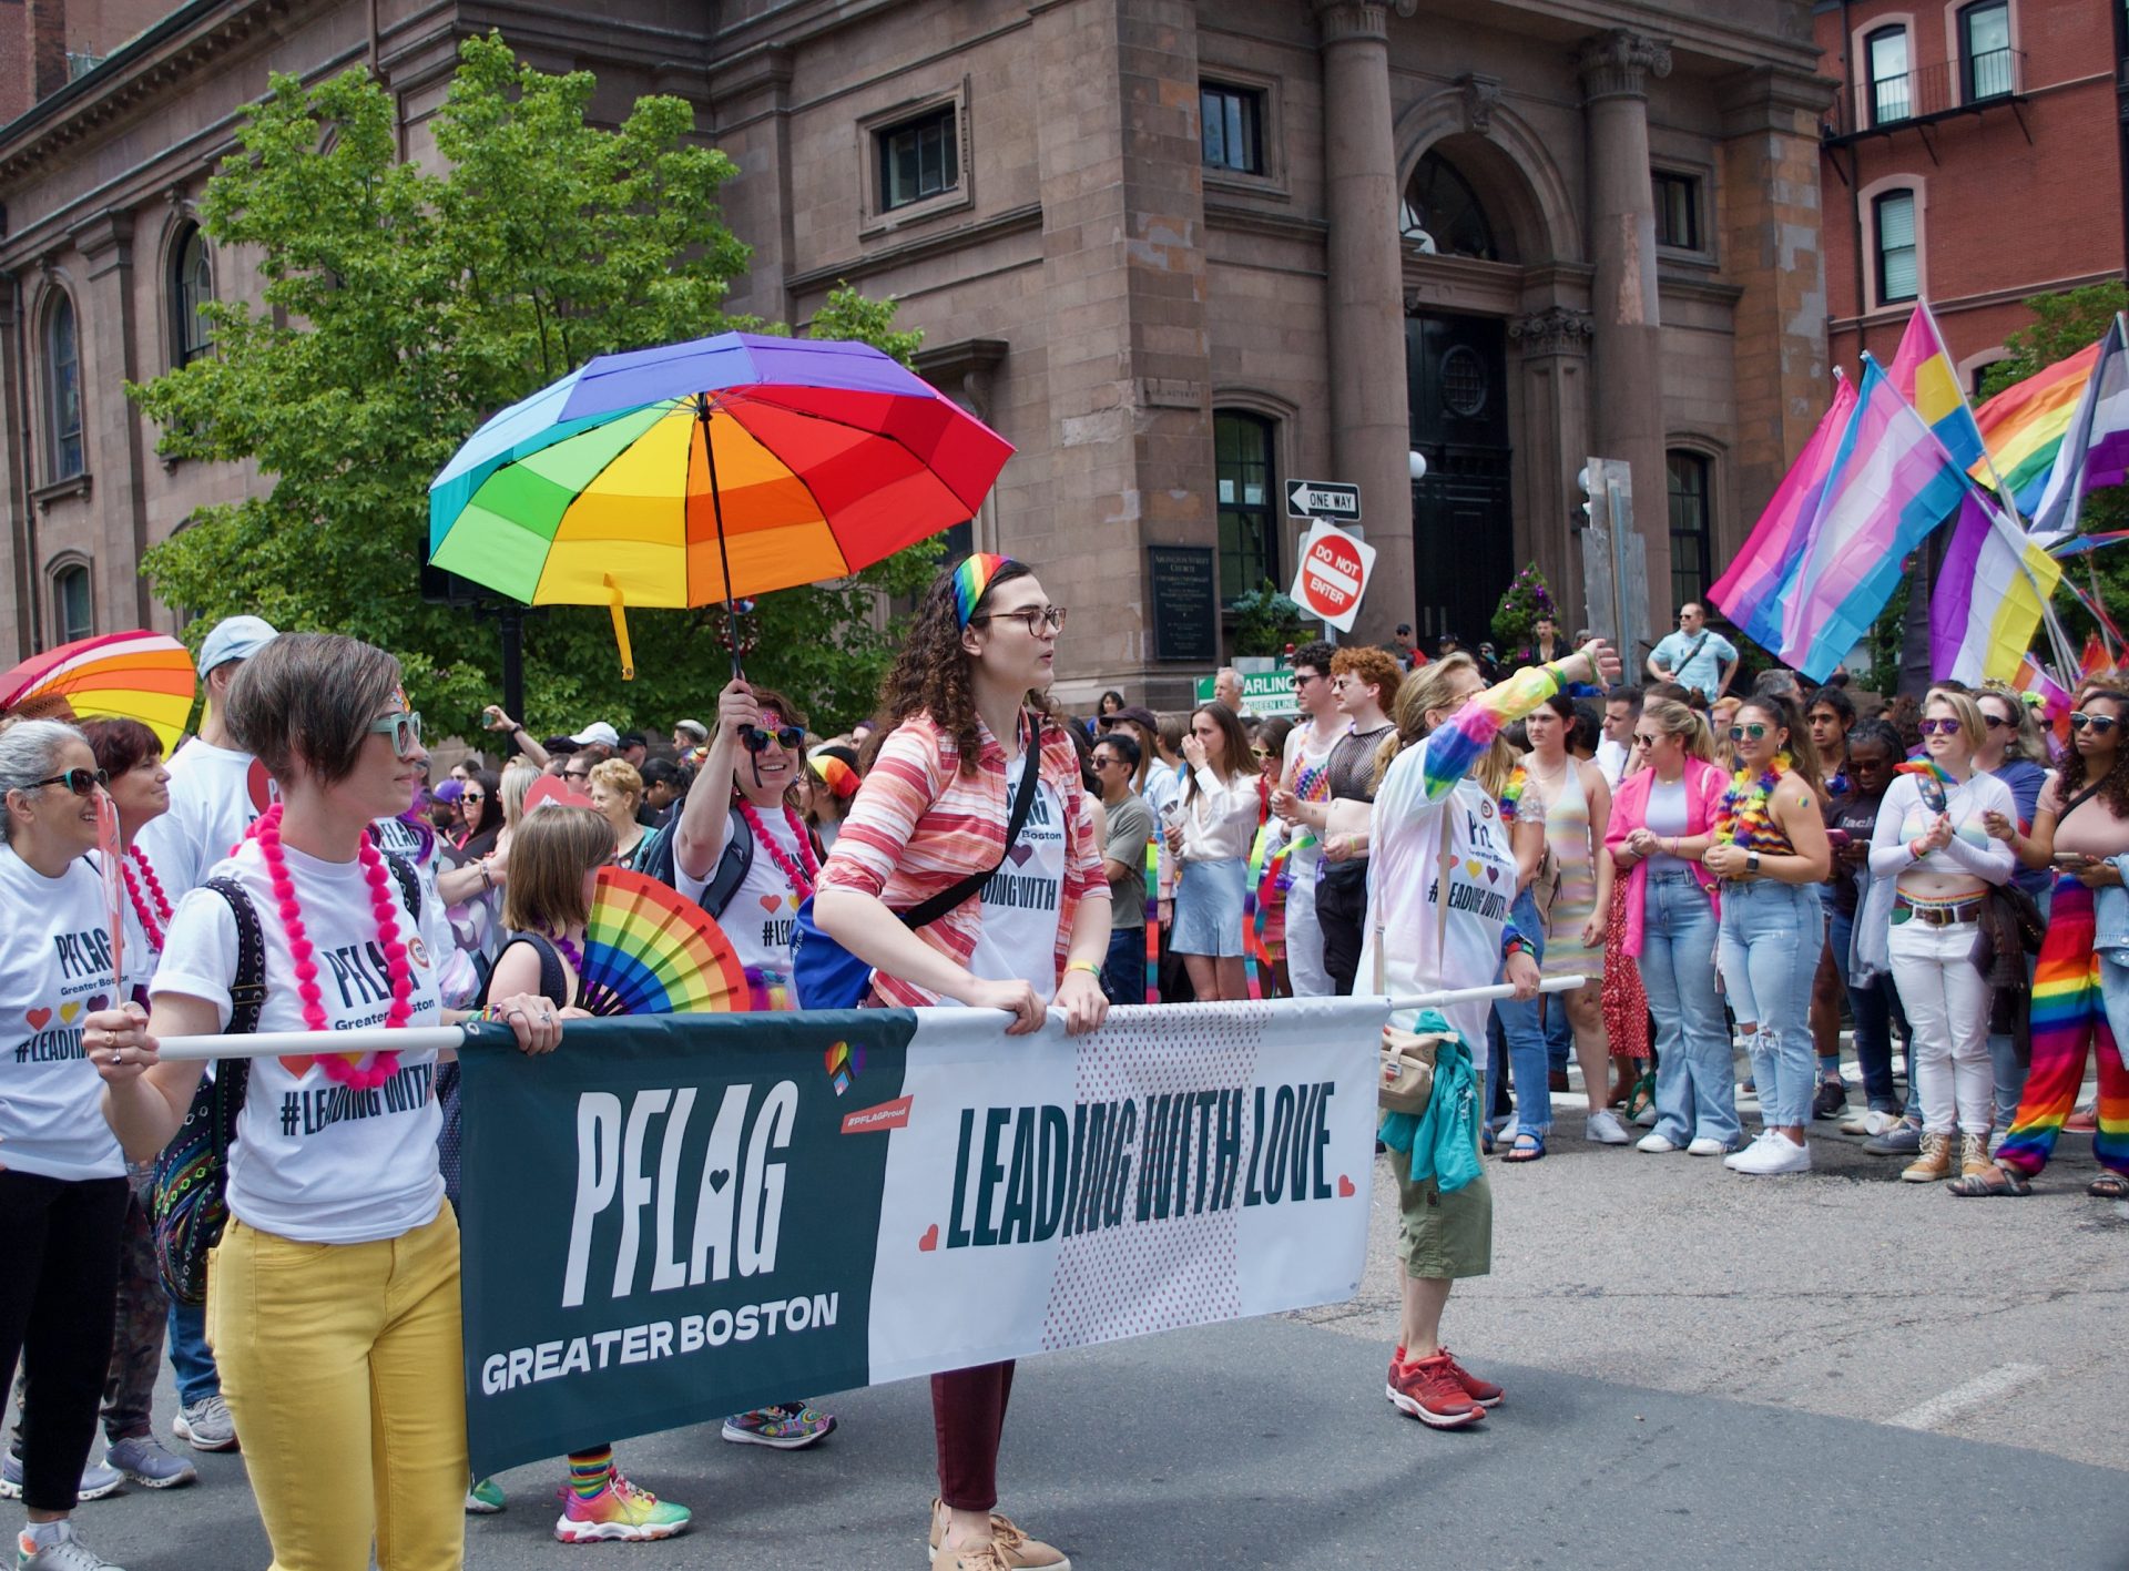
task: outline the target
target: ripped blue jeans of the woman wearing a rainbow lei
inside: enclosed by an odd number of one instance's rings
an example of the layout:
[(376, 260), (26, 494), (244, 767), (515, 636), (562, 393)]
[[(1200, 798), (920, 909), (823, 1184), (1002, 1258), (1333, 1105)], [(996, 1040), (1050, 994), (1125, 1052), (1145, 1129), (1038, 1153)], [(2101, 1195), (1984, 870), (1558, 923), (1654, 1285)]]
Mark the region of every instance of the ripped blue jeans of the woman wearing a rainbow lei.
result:
[(1827, 937), (1818, 890), (1776, 879), (1722, 886), (1722, 986), (1752, 1026), (1752, 1081), (1769, 1128), (1808, 1126), (1818, 1090), (1812, 973)]

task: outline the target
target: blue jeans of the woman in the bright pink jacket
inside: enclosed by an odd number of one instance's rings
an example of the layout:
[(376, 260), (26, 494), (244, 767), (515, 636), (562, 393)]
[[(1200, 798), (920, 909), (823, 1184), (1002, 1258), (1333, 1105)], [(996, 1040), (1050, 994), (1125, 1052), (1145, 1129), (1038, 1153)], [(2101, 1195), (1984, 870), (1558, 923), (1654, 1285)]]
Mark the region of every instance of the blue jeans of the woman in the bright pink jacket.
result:
[(1671, 1145), (1735, 1145), (1737, 1086), (1716, 994), (1716, 909), (1690, 873), (1650, 873), (1641, 894), (1641, 988), (1656, 1018), (1656, 1132)]

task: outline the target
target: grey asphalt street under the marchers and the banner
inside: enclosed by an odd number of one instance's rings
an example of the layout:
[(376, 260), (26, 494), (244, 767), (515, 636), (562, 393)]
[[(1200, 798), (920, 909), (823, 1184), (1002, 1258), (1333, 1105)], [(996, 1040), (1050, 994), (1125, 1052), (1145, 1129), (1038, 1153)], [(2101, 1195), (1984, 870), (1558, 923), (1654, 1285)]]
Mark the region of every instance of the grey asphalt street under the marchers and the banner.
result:
[[(1456, 1290), (1446, 1335), (1507, 1401), (1465, 1433), (1382, 1396), (1380, 1171), (1352, 1303), (1022, 1365), (1003, 1509), (1079, 1567), (2129, 1569), (2129, 1207), (2084, 1196), (2091, 1139), (2065, 1137), (2029, 1201), (1814, 1147), (1810, 1175), (1744, 1179), (1563, 1115), (1544, 1162), (1488, 1164), (1495, 1273)], [(694, 1507), (664, 1545), (558, 1545), (560, 1465), (509, 1473), (466, 1565), (922, 1569), (924, 1384), (824, 1405), (841, 1428), (811, 1452), (715, 1426), (624, 1441), (632, 1477)], [(243, 1460), (196, 1460), (194, 1488), (81, 1507), (85, 1537), (128, 1571), (264, 1567)]]

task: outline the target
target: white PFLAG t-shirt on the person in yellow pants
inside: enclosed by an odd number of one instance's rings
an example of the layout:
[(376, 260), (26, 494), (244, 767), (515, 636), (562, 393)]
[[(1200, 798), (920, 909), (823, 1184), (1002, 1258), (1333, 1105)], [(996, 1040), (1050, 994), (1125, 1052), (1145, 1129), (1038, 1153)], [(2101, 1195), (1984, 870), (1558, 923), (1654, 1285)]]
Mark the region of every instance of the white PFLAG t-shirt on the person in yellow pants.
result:
[[(281, 854), (317, 956), (326, 1020), (332, 1030), (381, 1026), (392, 983), (362, 862), (319, 862), (287, 845)], [(287, 932), (258, 841), (245, 841), (236, 856), (207, 875), (236, 879), (260, 915), (266, 939), (260, 1030), (304, 1030)], [(413, 1018), (407, 1024), (434, 1026), (436, 969), (451, 952), (451, 932), (434, 898), (422, 900), (415, 930), (396, 877), (390, 890), (413, 971)], [(149, 992), (155, 998), (204, 998), (228, 1026), (234, 979), (236, 917), (213, 890), (194, 890), (177, 907)], [(330, 1041), (330, 1032), (319, 1035), (321, 1045)], [(402, 1054), (392, 1079), (375, 1090), (343, 1086), (313, 1060), (253, 1058), (236, 1145), (230, 1147), (230, 1213), (262, 1233), (302, 1243), (373, 1243), (432, 1222), (443, 1205), (434, 1077), (434, 1052)]]

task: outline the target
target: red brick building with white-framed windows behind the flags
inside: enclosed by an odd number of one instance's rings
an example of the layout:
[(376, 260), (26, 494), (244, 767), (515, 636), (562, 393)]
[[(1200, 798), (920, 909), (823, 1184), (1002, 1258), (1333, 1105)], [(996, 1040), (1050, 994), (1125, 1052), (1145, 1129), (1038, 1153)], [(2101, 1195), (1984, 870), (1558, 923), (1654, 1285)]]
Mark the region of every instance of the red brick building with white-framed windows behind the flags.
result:
[(1820, 0), (1814, 36), (1835, 364), (1888, 364), (1927, 298), (1971, 394), (2029, 296), (2123, 277), (2123, 6)]

